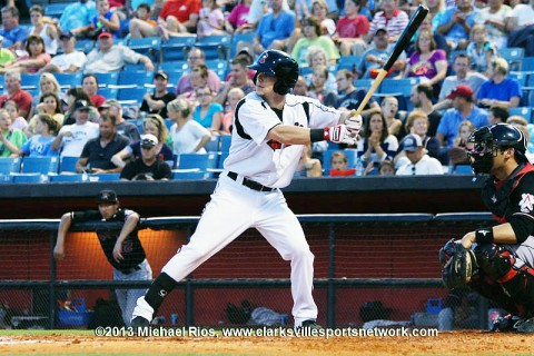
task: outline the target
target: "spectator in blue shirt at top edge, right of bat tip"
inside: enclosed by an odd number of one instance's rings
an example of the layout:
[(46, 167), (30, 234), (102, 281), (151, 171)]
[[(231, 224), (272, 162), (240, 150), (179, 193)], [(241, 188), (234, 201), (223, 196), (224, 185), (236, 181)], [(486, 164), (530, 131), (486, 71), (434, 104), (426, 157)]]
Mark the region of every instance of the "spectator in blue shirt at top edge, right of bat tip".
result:
[(451, 50), (466, 49), (475, 18), (471, 0), (456, 0), (456, 6), (443, 13), (437, 33), (445, 36)]

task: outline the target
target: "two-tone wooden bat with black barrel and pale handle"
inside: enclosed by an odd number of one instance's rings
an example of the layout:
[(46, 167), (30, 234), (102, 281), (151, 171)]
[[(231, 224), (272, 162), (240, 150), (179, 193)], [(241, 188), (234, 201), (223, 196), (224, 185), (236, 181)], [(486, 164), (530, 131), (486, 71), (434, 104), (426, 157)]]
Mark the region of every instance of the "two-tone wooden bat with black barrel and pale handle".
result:
[(398, 38), (397, 43), (395, 43), (392, 55), (389, 55), (389, 58), (387, 59), (386, 63), (378, 71), (378, 75), (376, 76), (376, 79), (373, 81), (373, 85), (367, 91), (367, 95), (365, 96), (364, 100), (362, 100), (362, 102), (359, 103), (359, 107), (356, 109), (356, 115), (362, 113), (367, 102), (369, 102), (370, 97), (375, 93), (376, 89), (380, 86), (384, 78), (386, 78), (389, 69), (392, 69), (393, 65), (398, 59), (398, 56), (400, 56), (400, 53), (406, 48), (408, 48), (409, 40), (412, 39), (412, 37), (414, 37), (415, 31), (417, 31), (417, 29), (421, 26), (421, 22), (423, 22), (423, 19), (426, 17), (427, 13), (428, 13), (428, 9), (419, 4), (415, 10), (415, 12), (412, 14), (412, 18), (409, 19), (408, 24), (404, 29), (403, 33), (400, 33), (400, 37)]

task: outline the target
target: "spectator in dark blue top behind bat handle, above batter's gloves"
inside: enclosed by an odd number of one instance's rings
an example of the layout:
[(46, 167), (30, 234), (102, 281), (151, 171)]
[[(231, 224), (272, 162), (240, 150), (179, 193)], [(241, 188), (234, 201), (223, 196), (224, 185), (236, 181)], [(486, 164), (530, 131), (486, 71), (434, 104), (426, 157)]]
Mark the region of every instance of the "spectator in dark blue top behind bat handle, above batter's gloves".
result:
[[(364, 100), (367, 92), (365, 89), (356, 89), (354, 87), (354, 76), (347, 69), (340, 69), (336, 73), (337, 91), (343, 96), (337, 98), (336, 108), (346, 110), (356, 110), (359, 107), (362, 100)], [(342, 109), (342, 110), (343, 110)], [(362, 116), (367, 117), (373, 112), (379, 112), (380, 106), (373, 97), (365, 105)]]

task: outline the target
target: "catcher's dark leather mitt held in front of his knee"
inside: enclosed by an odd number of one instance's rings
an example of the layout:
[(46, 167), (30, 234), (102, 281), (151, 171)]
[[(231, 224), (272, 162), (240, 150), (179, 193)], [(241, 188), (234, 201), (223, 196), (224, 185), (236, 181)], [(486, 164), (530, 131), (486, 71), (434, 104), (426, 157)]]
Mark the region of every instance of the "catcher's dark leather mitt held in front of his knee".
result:
[(443, 284), (448, 289), (466, 285), (475, 273), (477, 265), (475, 255), (462, 244), (454, 240), (447, 241), (439, 250)]

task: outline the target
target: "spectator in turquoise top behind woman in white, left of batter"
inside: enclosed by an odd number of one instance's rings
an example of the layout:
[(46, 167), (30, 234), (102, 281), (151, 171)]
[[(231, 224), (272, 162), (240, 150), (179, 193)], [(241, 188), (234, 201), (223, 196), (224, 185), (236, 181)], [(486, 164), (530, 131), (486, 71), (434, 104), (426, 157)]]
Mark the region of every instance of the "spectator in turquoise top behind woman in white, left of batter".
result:
[(214, 93), (207, 86), (198, 88), (195, 93), (199, 105), (192, 111), (194, 120), (211, 132), (218, 134), (225, 111), (222, 106), (214, 102)]

